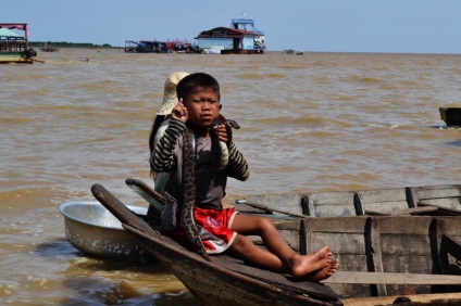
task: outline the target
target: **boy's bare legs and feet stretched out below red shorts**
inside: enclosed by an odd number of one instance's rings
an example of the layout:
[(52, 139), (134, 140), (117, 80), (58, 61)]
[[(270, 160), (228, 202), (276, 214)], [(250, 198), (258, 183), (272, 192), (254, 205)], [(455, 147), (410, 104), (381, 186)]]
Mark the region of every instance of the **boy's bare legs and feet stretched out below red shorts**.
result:
[(269, 218), (237, 215), (230, 229), (242, 235), (256, 234), (262, 238), (270, 252), (256, 246), (248, 238), (246, 239), (250, 243), (241, 239), (239, 239), (241, 245), (234, 242), (233, 251), (241, 254), (250, 263), (267, 265), (266, 268), (269, 269), (283, 270), (291, 272), (296, 277), (304, 277), (308, 273), (324, 269), (331, 264), (329, 246), (324, 246), (309, 255), (299, 255), (288, 245)]

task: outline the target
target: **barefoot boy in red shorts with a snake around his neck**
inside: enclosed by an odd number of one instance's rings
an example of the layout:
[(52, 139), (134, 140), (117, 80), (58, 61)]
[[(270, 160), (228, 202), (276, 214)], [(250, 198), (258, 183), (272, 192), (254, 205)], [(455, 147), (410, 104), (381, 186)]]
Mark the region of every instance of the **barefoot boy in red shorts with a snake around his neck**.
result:
[[(339, 262), (333, 259), (329, 246), (309, 255), (299, 255), (276, 230), (271, 219), (238, 215), (234, 208), (223, 209), (227, 177), (247, 180), (248, 164), (237, 150), (227, 125), (213, 126), (222, 104), (217, 81), (210, 75), (197, 73), (186, 76), (176, 87), (179, 102), (172, 110), (165, 135), (159, 140), (152, 156), (154, 171), (170, 171), (165, 186), (165, 208), (162, 225), (169, 234), (185, 240), (178, 216), (183, 202), (184, 132), (189, 128), (196, 137), (196, 208), (195, 219), (208, 254), (226, 250), (251, 265), (298, 278), (321, 281), (332, 276)], [(212, 132), (228, 148), (227, 166), (220, 170), (212, 161)], [(266, 250), (260, 248), (246, 235), (260, 235)]]

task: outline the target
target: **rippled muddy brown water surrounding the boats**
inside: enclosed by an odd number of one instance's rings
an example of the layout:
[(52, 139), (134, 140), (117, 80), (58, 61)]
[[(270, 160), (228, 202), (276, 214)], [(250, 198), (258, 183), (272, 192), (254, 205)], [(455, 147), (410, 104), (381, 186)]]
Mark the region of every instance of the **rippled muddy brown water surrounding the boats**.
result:
[[(87, 62), (86, 59), (89, 59)], [(146, 206), (125, 178), (151, 182), (150, 125), (175, 71), (207, 72), (251, 168), (234, 197), (460, 182), (461, 55), (39, 53), (0, 66), (0, 304), (194, 305), (163, 268), (83, 256), (59, 204), (99, 182)], [(153, 301), (153, 302), (152, 302)]]

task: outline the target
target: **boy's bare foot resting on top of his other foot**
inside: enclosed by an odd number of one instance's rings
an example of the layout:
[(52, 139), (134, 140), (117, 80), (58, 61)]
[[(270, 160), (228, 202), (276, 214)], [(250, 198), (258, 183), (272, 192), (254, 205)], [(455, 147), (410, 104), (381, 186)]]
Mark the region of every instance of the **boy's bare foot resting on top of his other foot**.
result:
[(332, 260), (329, 246), (324, 246), (309, 255), (297, 255), (291, 258), (291, 272), (295, 277), (302, 278), (311, 272), (328, 267)]

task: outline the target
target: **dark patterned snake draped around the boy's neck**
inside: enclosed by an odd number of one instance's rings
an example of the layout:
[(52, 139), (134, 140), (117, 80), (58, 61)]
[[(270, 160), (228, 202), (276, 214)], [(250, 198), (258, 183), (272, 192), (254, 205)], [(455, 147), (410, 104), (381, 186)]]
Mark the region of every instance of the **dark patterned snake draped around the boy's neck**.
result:
[[(226, 120), (222, 117), (220, 124), (225, 124), (230, 128), (239, 129), (240, 126), (235, 120)], [(213, 136), (214, 135), (214, 136)], [(214, 140), (213, 140), (214, 138)], [(204, 250), (203, 242), (200, 239), (200, 230), (197, 227), (194, 216), (194, 207), (196, 206), (196, 162), (197, 149), (196, 137), (190, 129), (184, 133), (183, 149), (183, 208), (180, 211), (180, 226), (186, 232), (187, 239), (198, 247), (198, 253), (204, 259), (211, 262)], [(217, 161), (215, 166), (217, 169), (224, 169), (228, 162), (228, 150), (226, 143), (219, 141), (216, 135), (212, 132), (212, 151), (214, 156), (212, 160)], [(214, 149), (213, 149), (214, 146)]]

